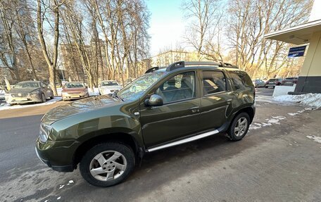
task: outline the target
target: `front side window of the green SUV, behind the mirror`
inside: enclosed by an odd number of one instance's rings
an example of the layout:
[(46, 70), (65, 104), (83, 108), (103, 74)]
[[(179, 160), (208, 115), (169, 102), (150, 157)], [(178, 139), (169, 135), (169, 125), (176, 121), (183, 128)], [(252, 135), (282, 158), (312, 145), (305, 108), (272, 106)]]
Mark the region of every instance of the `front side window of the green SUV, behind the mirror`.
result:
[(195, 72), (184, 72), (171, 77), (160, 85), (156, 94), (164, 103), (192, 99), (195, 97)]

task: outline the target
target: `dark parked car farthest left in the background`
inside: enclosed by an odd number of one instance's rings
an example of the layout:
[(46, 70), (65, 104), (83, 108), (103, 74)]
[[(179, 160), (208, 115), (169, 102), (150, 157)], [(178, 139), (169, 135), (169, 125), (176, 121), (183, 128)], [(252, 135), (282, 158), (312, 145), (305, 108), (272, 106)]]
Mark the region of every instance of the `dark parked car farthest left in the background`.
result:
[(39, 81), (18, 82), (5, 94), (6, 102), (13, 104), (44, 103), (47, 98), (53, 99), (51, 87)]

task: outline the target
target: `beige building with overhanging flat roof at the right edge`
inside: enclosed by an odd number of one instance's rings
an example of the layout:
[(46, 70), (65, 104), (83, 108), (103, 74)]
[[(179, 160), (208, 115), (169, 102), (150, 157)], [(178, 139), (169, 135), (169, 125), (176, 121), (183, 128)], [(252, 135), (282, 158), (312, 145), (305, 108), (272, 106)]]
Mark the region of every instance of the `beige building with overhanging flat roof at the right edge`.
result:
[(308, 23), (265, 34), (265, 39), (295, 45), (309, 44), (306, 59), (298, 76), (294, 92), (321, 93), (321, 1), (314, 1)]

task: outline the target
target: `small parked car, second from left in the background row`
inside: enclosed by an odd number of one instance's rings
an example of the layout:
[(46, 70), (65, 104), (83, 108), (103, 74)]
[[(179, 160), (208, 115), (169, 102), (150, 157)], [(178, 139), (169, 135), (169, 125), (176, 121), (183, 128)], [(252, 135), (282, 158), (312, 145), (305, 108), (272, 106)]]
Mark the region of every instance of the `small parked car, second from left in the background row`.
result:
[(66, 82), (61, 96), (63, 101), (86, 98), (89, 96), (88, 87), (83, 82)]

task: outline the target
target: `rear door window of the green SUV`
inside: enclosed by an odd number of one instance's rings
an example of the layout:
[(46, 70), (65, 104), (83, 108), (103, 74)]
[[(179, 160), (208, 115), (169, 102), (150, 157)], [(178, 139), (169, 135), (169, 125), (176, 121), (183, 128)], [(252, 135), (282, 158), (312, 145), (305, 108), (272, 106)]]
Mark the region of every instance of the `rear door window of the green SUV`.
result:
[(226, 80), (223, 72), (203, 71), (204, 95), (226, 91)]

